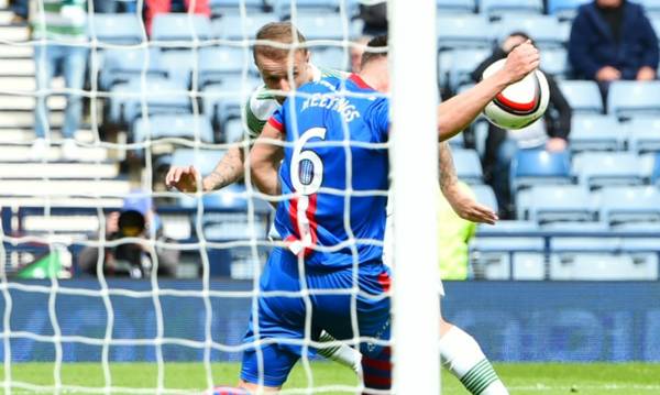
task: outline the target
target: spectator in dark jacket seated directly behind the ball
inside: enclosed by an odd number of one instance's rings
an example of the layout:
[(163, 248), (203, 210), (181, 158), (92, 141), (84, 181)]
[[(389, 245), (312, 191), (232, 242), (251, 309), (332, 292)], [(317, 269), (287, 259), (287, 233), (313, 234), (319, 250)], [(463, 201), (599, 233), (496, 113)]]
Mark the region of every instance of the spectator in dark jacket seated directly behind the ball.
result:
[[(482, 74), (491, 64), (503, 59), (517, 45), (529, 40), (522, 32), (514, 32), (507, 36), (493, 54), (482, 62), (472, 73), (472, 79), (481, 80)], [(557, 86), (554, 78), (546, 73), (550, 87), (550, 102), (546, 117), (527, 128), (509, 132), (488, 124), (488, 135), (483, 158), (484, 177), (493, 187), (499, 206), (499, 218), (508, 219), (515, 212), (509, 188), (509, 168), (519, 149), (534, 149), (546, 145), (550, 152), (566, 149), (566, 140), (571, 131), (571, 107)]]

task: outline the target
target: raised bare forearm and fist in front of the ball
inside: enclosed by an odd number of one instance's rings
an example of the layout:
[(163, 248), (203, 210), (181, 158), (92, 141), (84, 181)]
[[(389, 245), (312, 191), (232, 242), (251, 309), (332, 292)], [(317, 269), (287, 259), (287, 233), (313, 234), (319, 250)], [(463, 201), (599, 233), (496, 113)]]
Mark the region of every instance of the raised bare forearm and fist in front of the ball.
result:
[(472, 89), (438, 106), (440, 141), (451, 139), (472, 123), (484, 107), (508, 85), (522, 79), (539, 66), (539, 51), (526, 42), (509, 53), (504, 67)]

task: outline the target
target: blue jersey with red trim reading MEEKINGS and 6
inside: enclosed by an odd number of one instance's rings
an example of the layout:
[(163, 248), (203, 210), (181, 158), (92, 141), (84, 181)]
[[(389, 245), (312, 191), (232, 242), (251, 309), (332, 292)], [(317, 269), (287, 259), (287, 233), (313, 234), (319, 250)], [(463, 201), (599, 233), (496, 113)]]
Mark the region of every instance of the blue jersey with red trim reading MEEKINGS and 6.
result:
[(289, 199), (277, 207), (275, 227), (294, 253), (305, 253), (306, 264), (344, 267), (354, 257), (382, 257), (388, 112), (388, 99), (352, 75), (302, 86), (268, 121), (290, 143), (279, 168)]

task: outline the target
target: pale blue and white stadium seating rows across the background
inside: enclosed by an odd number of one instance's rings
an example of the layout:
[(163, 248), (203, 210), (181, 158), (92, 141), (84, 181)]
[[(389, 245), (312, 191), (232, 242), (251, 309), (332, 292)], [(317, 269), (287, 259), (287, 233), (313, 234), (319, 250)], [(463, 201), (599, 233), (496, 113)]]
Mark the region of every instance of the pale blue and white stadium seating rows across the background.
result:
[[(660, 222), (657, 209), (660, 207), (660, 83), (615, 83), (604, 108), (595, 83), (571, 79), (565, 42), (570, 19), (584, 2), (549, 0), (543, 8), (537, 0), (437, 1), (441, 11), (438, 17), (438, 84), (443, 91), (469, 88), (469, 73), (487, 56), (492, 45), (508, 32), (522, 30), (532, 32), (542, 48), (542, 68), (558, 77), (574, 113), (569, 152), (548, 154), (542, 150), (524, 150), (518, 153), (512, 165), (510, 179), (520, 221), (501, 222), (487, 231), (480, 228), (480, 235), (471, 248), (475, 277), (593, 278), (587, 270), (595, 267), (593, 265), (604, 270), (612, 267), (612, 272), (602, 278), (615, 278), (615, 274), (620, 275), (624, 271), (631, 273), (624, 278), (657, 277), (657, 270), (649, 268), (657, 261), (649, 252), (653, 250), (652, 239), (622, 237), (612, 243), (616, 250), (595, 251), (596, 245), (588, 238), (568, 242), (561, 237), (546, 237), (579, 230), (594, 234), (657, 232)], [(358, 2), (349, 1), (345, 14), (340, 13), (337, 1), (296, 3), (295, 18), (308, 39), (341, 40), (344, 31), (351, 37), (359, 35), (361, 24), (350, 20), (356, 14)], [(654, 26), (660, 26), (658, 1), (642, 3)], [(135, 169), (135, 164), (127, 165), (123, 152), (95, 145), (99, 139), (111, 139), (97, 134), (97, 127), (112, 127), (130, 143), (165, 139), (154, 143), (152, 150), (154, 174), (170, 164), (193, 162), (202, 173), (208, 173), (222, 155), (221, 150), (202, 150), (195, 154), (190, 147), (170, 144), (172, 139), (193, 144), (196, 140), (223, 143), (242, 138), (241, 107), (261, 81), (250, 50), (239, 45), (239, 41), (252, 37), (266, 22), (286, 18), (290, 13), (290, 2), (212, 0), (210, 4), (212, 20), (176, 13), (156, 17), (151, 37), (153, 45), (148, 48), (135, 46), (146, 40), (143, 23), (136, 14), (95, 14), (90, 19), (89, 36), (101, 47), (90, 57), (94, 59), (90, 78), (96, 78), (98, 89), (109, 95), (99, 101), (103, 117), (98, 124), (85, 124), (77, 133), (78, 141), (85, 145), (79, 158), (63, 161), (58, 130), (63, 122), (64, 97), (59, 90), (63, 84), (56, 79), (55, 95), (50, 103), (55, 143), (47, 154), (48, 163), (30, 163), (20, 174), (12, 172), (12, 166), (28, 163), (29, 143), (33, 140), (32, 50), (25, 45), (0, 43), (0, 83), (4, 87), (0, 96), (0, 179), (3, 180), (0, 202), (36, 206), (33, 207), (35, 210), (21, 211), (25, 218), (16, 223), (25, 231), (38, 232), (52, 227), (62, 234), (88, 234), (97, 230), (98, 221), (92, 219), (97, 217), (81, 209), (118, 207), (121, 201), (117, 196), (136, 186), (134, 174), (140, 171)], [(243, 6), (246, 18), (240, 15)], [(28, 30), (22, 25), (3, 25), (0, 32), (9, 42), (28, 40)], [(230, 42), (219, 45), (219, 42), (207, 40)], [(312, 59), (315, 64), (345, 70), (350, 57), (342, 46), (318, 46), (312, 47)], [(86, 121), (89, 123), (91, 119), (88, 117)], [(471, 140), (462, 136), (450, 142), (457, 169), (461, 178), (471, 184), (480, 201), (496, 208), (493, 190), (483, 185), (480, 157), (483, 150), (473, 150), (483, 147), (484, 133), (479, 132), (479, 127), (473, 129), (475, 145), (470, 145)], [(47, 187), (40, 186), (40, 177), (51, 179)], [(235, 198), (243, 190), (238, 188), (211, 194), (201, 201), (164, 200), (162, 217), (167, 232), (177, 240), (196, 238), (199, 230), (210, 240), (245, 235), (250, 231), (246, 218), (244, 213), (237, 216), (245, 205), (244, 199)], [(79, 196), (66, 198), (64, 190)], [(88, 195), (95, 196), (94, 202)], [(65, 208), (54, 220), (56, 223), (47, 222), (50, 219), (38, 210), (45, 198)], [(198, 204), (217, 211), (215, 217), (205, 218), (201, 227), (191, 215)], [(260, 207), (263, 218), (267, 218), (267, 207)], [(228, 211), (227, 217), (222, 211)], [(260, 222), (257, 237), (265, 237), (266, 224), (267, 221)], [(507, 238), (503, 244), (501, 237), (512, 231), (518, 235)], [(527, 235), (520, 235), (524, 233)], [(547, 251), (548, 248), (551, 251)], [(237, 268), (235, 273), (249, 277), (251, 264), (245, 262), (250, 254), (235, 252), (232, 256), (224, 259), (243, 260), (244, 265), (239, 265), (243, 268)]]

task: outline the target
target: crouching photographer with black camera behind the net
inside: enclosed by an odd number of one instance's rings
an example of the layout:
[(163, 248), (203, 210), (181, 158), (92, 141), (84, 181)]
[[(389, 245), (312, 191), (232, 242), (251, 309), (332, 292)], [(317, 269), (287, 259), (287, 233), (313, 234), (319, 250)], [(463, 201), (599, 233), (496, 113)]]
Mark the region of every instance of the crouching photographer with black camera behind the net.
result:
[[(129, 196), (121, 211), (114, 211), (106, 218), (106, 240), (113, 241), (123, 238), (138, 238), (173, 243), (165, 239), (158, 224), (151, 197), (143, 195)], [(152, 234), (153, 233), (153, 234)], [(174, 277), (178, 262), (178, 250), (155, 248), (158, 276)], [(88, 246), (78, 255), (78, 268), (81, 273), (96, 275), (99, 260), (99, 249)], [(107, 246), (102, 257), (106, 275), (130, 276), (133, 278), (148, 277), (156, 262), (145, 243), (122, 243)]]

